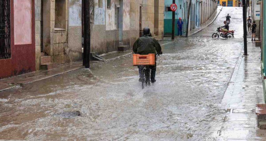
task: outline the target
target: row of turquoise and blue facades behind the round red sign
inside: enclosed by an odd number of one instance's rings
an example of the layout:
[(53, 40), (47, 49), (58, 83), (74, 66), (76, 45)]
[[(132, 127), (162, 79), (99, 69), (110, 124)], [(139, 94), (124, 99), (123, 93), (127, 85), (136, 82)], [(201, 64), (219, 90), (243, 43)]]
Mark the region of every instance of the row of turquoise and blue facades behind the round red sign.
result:
[[(164, 35), (170, 36), (172, 32), (172, 11), (170, 5), (172, 0), (165, 0), (164, 7)], [(177, 10), (175, 11), (175, 26), (178, 18), (182, 18), (183, 21), (183, 34), (186, 33), (187, 13), (189, 0), (177, 0)], [(192, 0), (190, 9), (190, 18), (188, 30), (196, 29), (201, 24), (205, 23), (212, 15), (214, 10), (217, 8), (215, 0)], [(175, 28), (175, 35), (177, 35), (177, 27)]]

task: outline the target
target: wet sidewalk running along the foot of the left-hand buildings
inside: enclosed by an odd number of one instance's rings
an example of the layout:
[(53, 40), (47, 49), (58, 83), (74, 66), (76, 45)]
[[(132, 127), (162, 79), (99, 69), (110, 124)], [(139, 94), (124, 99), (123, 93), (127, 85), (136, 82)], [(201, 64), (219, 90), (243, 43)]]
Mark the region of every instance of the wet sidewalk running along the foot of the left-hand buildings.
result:
[[(163, 41), (160, 41), (159, 43), (161, 45), (169, 44), (172, 43), (171, 39), (165, 39)], [(114, 60), (116, 58), (130, 55), (132, 54), (132, 50), (126, 50), (123, 52), (111, 52), (107, 54), (100, 55), (103, 58), (106, 59), (106, 61)], [(94, 64), (100, 63), (99, 61), (91, 61), (90, 65), (93, 67)], [(67, 63), (63, 65), (59, 65), (57, 68), (54, 68), (52, 70), (38, 70), (26, 74), (22, 74), (19, 76), (13, 76), (13, 77), (8, 77), (4, 79), (0, 79), (0, 92), (1, 91), (6, 91), (8, 89), (12, 89), (18, 86), (23, 86), (28, 83), (32, 83), (35, 81), (40, 81), (49, 77), (57, 76), (63, 73), (67, 73), (73, 70), (77, 70), (79, 68), (83, 68), (84, 66), (82, 65), (82, 61), (76, 61), (72, 63)]]

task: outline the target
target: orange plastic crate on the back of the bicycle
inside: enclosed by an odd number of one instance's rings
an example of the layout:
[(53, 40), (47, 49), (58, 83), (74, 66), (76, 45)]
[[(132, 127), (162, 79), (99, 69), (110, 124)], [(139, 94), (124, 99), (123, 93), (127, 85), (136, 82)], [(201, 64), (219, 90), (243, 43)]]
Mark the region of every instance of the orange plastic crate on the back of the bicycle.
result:
[(155, 54), (133, 54), (133, 65), (155, 65)]

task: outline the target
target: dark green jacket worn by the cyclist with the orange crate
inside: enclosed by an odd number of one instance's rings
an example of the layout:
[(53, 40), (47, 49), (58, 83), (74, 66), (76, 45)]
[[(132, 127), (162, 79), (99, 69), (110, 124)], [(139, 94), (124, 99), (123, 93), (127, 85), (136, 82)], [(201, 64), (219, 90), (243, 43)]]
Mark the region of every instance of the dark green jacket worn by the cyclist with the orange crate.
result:
[(158, 41), (150, 36), (144, 35), (136, 40), (133, 45), (133, 52), (135, 54), (147, 55), (149, 53), (156, 54), (161, 52), (161, 45)]

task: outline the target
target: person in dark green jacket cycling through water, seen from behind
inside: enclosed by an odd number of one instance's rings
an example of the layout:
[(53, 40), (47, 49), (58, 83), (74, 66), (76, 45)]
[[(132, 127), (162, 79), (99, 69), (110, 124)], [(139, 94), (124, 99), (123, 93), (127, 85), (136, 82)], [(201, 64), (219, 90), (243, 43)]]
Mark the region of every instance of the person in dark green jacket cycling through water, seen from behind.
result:
[[(136, 42), (133, 44), (133, 52), (135, 54), (140, 54), (140, 55), (147, 55), (150, 53), (156, 54), (162, 54), (161, 50), (161, 45), (158, 43), (158, 41), (151, 37), (151, 32), (148, 27), (145, 27), (143, 29), (143, 36), (138, 38)], [(145, 66), (138, 66), (139, 68), (139, 73), (140, 73), (140, 79), (141, 81), (141, 71), (144, 69)], [(151, 69), (151, 83), (155, 83), (155, 74), (156, 74), (156, 62), (155, 65), (149, 66)], [(146, 73), (146, 72), (145, 72)]]

